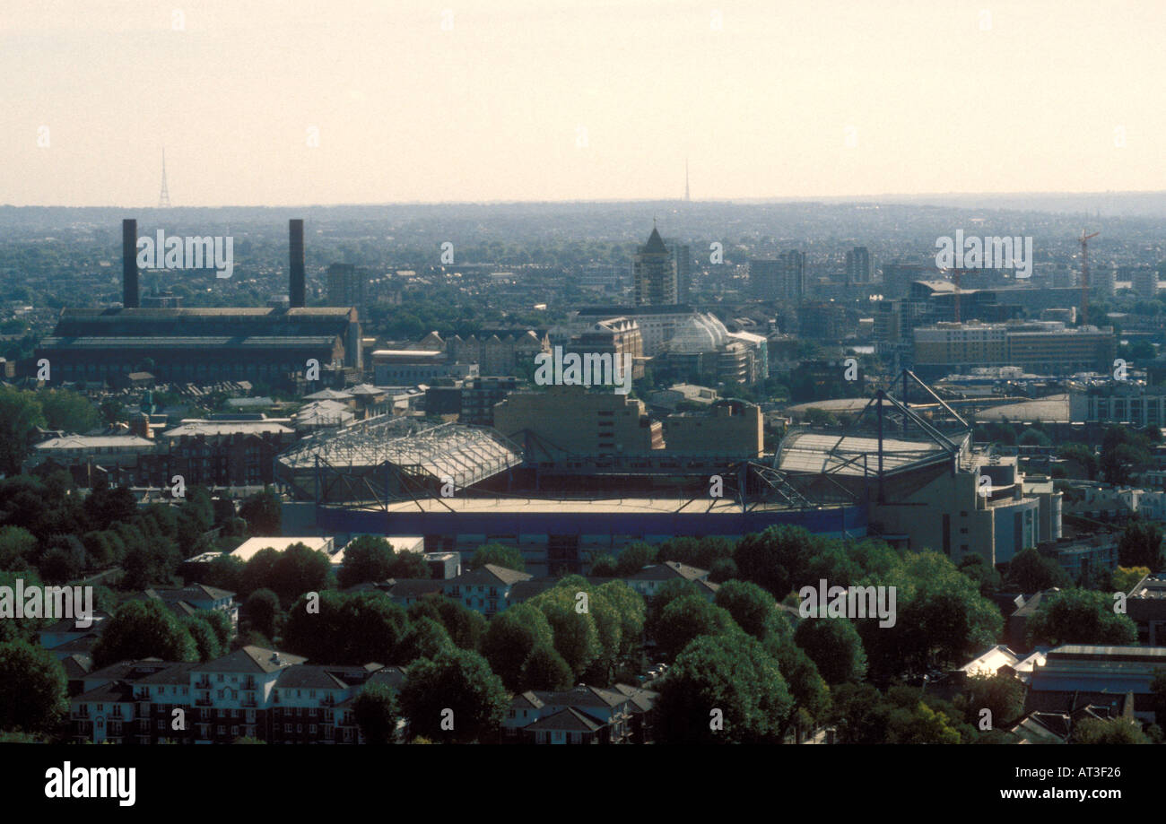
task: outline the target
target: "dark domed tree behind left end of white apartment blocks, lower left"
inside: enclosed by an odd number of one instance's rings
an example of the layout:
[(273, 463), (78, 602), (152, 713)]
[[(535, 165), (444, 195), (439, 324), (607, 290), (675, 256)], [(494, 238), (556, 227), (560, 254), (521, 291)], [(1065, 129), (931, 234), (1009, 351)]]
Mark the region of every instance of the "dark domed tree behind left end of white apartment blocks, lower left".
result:
[(162, 601), (126, 601), (108, 619), (93, 647), (96, 669), (118, 661), (156, 657), (163, 661), (198, 661), (190, 633)]

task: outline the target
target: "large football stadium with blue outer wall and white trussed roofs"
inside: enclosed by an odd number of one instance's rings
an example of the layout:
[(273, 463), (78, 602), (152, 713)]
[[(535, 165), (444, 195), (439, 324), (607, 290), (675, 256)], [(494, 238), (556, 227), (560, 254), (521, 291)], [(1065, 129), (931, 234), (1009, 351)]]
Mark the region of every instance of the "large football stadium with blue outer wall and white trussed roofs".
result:
[[(792, 430), (772, 456), (715, 466), (676, 456), (667, 470), (652, 456), (575, 456), (548, 466), (521, 438), (490, 428), (386, 416), (301, 441), (276, 458), (276, 477), (314, 502), (324, 533), (417, 535), (428, 551), (498, 542), (518, 547), (534, 572), (585, 571), (632, 541), (736, 538), (782, 524), (900, 540), (872, 513), (972, 466), (970, 427), (906, 378), (904, 389), (922, 395), (914, 408), (880, 389), (842, 432)], [(563, 464), (574, 467), (574, 490), (562, 483)], [(721, 476), (721, 496), (710, 495), (710, 473)]]

